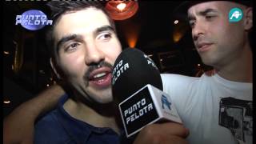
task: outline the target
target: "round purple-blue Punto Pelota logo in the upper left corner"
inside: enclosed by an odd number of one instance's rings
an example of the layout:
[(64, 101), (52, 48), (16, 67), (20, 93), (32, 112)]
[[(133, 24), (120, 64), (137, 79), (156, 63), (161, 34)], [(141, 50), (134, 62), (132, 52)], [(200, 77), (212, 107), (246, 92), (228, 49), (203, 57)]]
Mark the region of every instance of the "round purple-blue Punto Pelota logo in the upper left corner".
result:
[(53, 21), (48, 20), (41, 10), (27, 10), (22, 15), (16, 16), (15, 25), (18, 24), (27, 30), (40, 30), (46, 25), (52, 25)]

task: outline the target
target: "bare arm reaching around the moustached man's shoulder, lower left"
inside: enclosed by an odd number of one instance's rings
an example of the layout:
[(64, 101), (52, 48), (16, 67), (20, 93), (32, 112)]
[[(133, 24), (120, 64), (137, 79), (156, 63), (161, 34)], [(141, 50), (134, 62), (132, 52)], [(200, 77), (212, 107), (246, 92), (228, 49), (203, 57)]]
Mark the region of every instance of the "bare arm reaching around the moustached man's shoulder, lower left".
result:
[(3, 122), (3, 143), (33, 143), (34, 122), (39, 115), (52, 110), (65, 94), (61, 86), (54, 85), (37, 97), (22, 103)]

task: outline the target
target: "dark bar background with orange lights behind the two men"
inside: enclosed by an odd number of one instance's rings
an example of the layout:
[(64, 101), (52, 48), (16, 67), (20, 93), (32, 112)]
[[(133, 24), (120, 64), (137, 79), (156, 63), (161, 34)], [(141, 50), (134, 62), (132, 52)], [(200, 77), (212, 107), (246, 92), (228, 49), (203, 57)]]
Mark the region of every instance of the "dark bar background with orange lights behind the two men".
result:
[[(128, 1), (127, 1), (128, 2)], [(206, 66), (194, 49), (186, 14), (176, 11), (179, 1), (137, 1), (130, 18), (115, 20), (122, 47), (136, 47), (150, 56), (161, 73), (196, 76)], [(16, 15), (26, 10), (50, 12), (46, 2), (4, 2), (3, 11), (3, 114), (54, 84), (45, 30), (15, 26)], [(102, 1), (106, 6), (107, 1)], [(129, 6), (127, 4), (127, 6)], [(200, 75), (200, 74), (199, 74)]]

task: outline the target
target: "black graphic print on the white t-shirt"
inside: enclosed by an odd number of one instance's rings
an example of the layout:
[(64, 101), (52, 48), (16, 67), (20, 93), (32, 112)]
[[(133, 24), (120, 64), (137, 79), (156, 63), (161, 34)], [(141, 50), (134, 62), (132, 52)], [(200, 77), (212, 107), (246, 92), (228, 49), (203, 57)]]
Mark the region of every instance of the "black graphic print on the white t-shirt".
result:
[(240, 141), (251, 141), (253, 134), (252, 101), (221, 98), (218, 124), (228, 128)]

